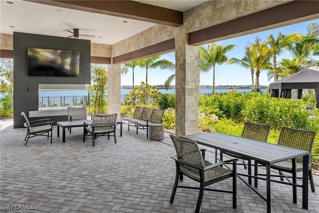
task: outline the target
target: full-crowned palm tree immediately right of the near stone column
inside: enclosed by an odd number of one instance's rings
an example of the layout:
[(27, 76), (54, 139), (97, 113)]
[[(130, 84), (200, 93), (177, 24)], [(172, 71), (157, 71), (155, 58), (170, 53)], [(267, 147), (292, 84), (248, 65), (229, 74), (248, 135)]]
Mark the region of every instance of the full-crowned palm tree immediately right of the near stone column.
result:
[(210, 43), (207, 48), (203, 46), (199, 46), (199, 63), (203, 63), (202, 65), (198, 65), (199, 68), (203, 72), (209, 72), (211, 67), (213, 68), (213, 91), (212, 94), (215, 94), (215, 66), (216, 64), (223, 64), (227, 62), (227, 57), (225, 55), (226, 52), (232, 50), (236, 45), (231, 44), (227, 46), (217, 45), (216, 43)]

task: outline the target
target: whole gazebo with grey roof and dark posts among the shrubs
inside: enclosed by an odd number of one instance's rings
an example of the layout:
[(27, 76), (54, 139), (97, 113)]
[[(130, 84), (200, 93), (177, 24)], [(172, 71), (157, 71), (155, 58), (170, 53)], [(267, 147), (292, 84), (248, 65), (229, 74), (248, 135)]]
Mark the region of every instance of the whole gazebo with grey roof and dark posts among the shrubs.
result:
[(291, 90), (298, 89), (298, 99), (301, 99), (303, 89), (315, 89), (317, 108), (319, 108), (319, 71), (305, 69), (286, 78), (275, 81), (269, 85), (272, 97), (291, 98)]

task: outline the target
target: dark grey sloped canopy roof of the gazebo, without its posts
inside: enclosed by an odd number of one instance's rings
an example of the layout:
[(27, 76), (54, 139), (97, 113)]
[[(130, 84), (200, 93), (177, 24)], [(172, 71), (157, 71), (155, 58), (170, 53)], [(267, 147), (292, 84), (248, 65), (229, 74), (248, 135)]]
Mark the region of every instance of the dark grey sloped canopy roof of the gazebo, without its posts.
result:
[(270, 89), (318, 89), (319, 71), (306, 69), (269, 85)]

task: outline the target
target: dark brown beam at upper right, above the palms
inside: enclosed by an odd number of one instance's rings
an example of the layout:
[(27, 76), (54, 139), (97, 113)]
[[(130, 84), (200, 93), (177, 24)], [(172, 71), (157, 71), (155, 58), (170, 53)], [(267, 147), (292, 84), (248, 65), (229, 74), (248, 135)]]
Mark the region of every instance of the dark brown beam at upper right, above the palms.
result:
[[(221, 24), (189, 33), (188, 44), (201, 45), (254, 32), (258, 28), (272, 29), (319, 18), (319, 4), (315, 0), (295, 0)], [(295, 22), (294, 22), (295, 20)], [(275, 27), (274, 27), (275, 26)]]

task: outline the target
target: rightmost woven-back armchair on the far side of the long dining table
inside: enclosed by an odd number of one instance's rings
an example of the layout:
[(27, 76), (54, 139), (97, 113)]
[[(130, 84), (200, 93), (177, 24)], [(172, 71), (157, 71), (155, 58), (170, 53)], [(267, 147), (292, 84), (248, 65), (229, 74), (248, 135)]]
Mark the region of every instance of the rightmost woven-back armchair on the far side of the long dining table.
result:
[[(310, 130), (302, 130), (302, 129), (295, 129), (295, 128), (289, 128), (283, 126), (280, 131), (279, 139), (278, 139), (278, 145), (291, 147), (295, 149), (301, 149), (305, 151), (309, 151), (310, 158), (309, 158), (309, 180), (310, 180), (310, 186), (311, 190), (315, 192), (315, 184), (314, 184), (314, 178), (312, 174), (312, 166), (311, 166), (311, 156), (316, 155), (312, 153), (314, 141), (315, 141), (316, 132), (310, 131)], [(296, 173), (303, 171), (303, 158), (296, 159)], [(281, 181), (286, 178), (293, 178), (293, 183), (296, 184), (297, 178), (296, 174), (293, 174), (293, 166), (291, 160), (286, 160), (282, 162), (275, 163), (271, 166), (272, 169), (276, 169), (279, 171), (280, 179)], [(284, 175), (283, 172), (291, 173), (293, 177), (287, 177)], [(297, 190), (296, 187), (294, 191), (296, 193), (297, 197)], [(296, 199), (297, 202), (297, 199)]]

